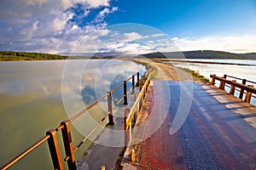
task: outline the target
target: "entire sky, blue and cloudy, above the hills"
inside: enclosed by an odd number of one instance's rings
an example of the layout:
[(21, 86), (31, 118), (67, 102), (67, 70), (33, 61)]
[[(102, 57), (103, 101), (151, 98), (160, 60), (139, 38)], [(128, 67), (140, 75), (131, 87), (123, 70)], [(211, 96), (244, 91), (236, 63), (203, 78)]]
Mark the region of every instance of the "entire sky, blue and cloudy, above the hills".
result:
[[(124, 24), (130, 23), (130, 24)], [(0, 50), (256, 52), (255, 0), (2, 0)]]

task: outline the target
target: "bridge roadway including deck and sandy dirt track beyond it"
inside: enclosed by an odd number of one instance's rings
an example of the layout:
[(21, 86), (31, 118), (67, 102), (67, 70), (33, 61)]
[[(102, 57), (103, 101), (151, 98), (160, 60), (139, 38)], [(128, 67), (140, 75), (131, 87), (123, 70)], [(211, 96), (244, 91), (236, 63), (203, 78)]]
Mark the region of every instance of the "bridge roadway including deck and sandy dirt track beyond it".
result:
[(256, 107), (156, 65), (161, 77), (149, 87), (123, 169), (255, 170)]

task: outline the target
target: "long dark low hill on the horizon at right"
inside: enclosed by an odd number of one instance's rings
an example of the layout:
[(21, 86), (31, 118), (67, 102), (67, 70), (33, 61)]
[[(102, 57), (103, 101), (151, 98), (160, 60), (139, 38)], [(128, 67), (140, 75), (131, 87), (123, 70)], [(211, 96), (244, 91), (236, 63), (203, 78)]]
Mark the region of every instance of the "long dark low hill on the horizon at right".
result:
[(169, 58), (169, 59), (256, 59), (256, 53), (250, 54), (232, 54), (223, 51), (185, 51), (185, 52), (169, 52), (169, 53), (151, 53), (142, 54), (137, 57), (146, 58)]

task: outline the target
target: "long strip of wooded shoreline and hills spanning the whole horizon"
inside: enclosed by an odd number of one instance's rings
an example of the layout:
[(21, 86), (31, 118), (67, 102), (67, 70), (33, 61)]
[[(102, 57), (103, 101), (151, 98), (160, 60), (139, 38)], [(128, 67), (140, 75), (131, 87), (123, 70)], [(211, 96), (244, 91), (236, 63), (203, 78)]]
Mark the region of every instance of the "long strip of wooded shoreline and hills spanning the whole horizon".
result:
[[(223, 51), (198, 50), (183, 52), (154, 52), (150, 54), (78, 54), (77, 56), (62, 54), (43, 54), (31, 52), (0, 51), (0, 61), (55, 60), (55, 59), (245, 59), (256, 60), (256, 53), (232, 54)], [(193, 61), (191, 61), (193, 62)], [(203, 63), (203, 62), (201, 62)], [(206, 63), (207, 64), (207, 63)], [(219, 63), (209, 63), (219, 64)], [(220, 63), (221, 64), (221, 63)], [(232, 65), (223, 63), (224, 65)]]

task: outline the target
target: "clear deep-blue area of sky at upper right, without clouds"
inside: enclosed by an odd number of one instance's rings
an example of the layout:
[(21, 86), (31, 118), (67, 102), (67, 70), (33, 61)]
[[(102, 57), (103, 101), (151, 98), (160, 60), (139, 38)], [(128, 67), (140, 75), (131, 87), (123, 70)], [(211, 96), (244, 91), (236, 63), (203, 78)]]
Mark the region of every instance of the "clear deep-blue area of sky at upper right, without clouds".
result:
[(255, 0), (131, 0), (115, 3), (120, 10), (107, 18), (110, 24), (141, 23), (171, 37), (255, 35)]

